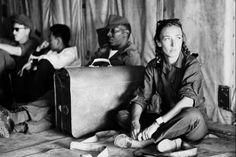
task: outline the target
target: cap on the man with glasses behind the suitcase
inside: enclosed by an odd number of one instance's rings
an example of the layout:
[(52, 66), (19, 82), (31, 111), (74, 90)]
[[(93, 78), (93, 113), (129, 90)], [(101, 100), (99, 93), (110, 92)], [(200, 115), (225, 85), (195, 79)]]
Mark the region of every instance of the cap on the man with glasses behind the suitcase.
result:
[(110, 15), (106, 28), (114, 28), (118, 25), (130, 25), (130, 23), (125, 17), (119, 15)]

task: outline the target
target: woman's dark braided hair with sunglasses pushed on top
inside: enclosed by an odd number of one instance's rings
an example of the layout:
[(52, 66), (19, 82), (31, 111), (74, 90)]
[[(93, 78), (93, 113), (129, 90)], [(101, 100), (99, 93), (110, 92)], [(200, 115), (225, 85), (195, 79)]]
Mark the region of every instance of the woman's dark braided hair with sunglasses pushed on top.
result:
[(183, 43), (182, 43), (182, 53), (187, 56), (190, 54), (190, 51), (188, 49), (188, 47), (186, 46), (185, 40), (186, 40), (186, 36), (184, 34), (183, 28), (182, 28), (182, 24), (180, 23), (179, 19), (165, 19), (165, 20), (160, 20), (157, 21), (157, 25), (156, 25), (156, 34), (154, 36), (154, 42), (155, 42), (155, 52), (156, 52), (156, 57), (160, 57), (163, 55), (162, 52), (162, 48), (158, 46), (157, 41), (160, 41), (160, 35), (161, 35), (161, 31), (162, 29), (164, 29), (165, 27), (170, 27), (170, 26), (177, 26), (181, 29), (182, 34), (183, 34)]

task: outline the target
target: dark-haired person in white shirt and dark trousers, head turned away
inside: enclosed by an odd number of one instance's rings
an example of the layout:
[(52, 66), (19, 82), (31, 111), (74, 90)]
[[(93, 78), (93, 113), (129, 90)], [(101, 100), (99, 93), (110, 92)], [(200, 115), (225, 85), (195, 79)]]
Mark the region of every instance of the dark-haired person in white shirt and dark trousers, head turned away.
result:
[[(55, 24), (50, 27), (50, 43), (43, 42), (37, 51), (30, 56), (27, 64), (22, 68), (30, 73), (30, 89), (29, 95), (31, 100), (35, 101), (43, 96), (47, 91), (53, 89), (53, 74), (55, 70), (65, 66), (76, 65), (80, 66), (81, 62), (78, 59), (77, 48), (69, 47), (70, 29), (66, 25)], [(50, 50), (46, 54), (37, 54), (42, 50)], [(42, 50), (40, 50), (42, 49)], [(33, 60), (37, 63), (37, 69), (31, 69)], [(24, 75), (22, 76), (24, 77)]]

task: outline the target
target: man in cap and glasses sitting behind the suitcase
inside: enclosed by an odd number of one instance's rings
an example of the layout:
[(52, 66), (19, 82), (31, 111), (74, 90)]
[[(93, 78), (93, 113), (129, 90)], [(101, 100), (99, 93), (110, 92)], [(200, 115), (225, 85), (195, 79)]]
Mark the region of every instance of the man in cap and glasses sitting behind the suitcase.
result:
[(129, 41), (131, 26), (125, 17), (110, 15), (107, 30), (108, 43), (92, 57), (109, 59), (111, 65), (141, 65), (136, 46)]

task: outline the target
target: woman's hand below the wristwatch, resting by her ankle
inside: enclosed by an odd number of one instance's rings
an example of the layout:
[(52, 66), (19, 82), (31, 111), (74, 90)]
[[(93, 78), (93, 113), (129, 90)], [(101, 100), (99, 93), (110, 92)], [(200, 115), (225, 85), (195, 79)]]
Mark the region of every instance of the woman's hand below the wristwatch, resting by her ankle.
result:
[(138, 134), (138, 140), (148, 140), (152, 138), (153, 133), (159, 128), (159, 125), (157, 122), (154, 122), (152, 125), (147, 127), (145, 130), (143, 130), (141, 133)]

